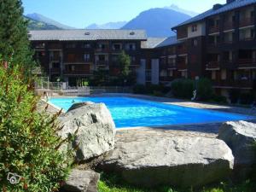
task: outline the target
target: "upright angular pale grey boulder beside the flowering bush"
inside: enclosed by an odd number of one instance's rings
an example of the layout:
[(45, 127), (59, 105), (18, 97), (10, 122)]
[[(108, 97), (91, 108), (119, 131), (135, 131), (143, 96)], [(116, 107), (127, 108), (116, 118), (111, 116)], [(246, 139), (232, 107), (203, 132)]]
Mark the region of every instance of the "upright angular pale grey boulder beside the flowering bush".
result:
[[(59, 135), (65, 139), (75, 135), (73, 148), (76, 160), (84, 161), (113, 149), (115, 125), (105, 104), (87, 104), (75, 108), (60, 118), (63, 129)], [(61, 150), (67, 149), (67, 144)]]

